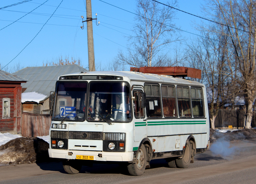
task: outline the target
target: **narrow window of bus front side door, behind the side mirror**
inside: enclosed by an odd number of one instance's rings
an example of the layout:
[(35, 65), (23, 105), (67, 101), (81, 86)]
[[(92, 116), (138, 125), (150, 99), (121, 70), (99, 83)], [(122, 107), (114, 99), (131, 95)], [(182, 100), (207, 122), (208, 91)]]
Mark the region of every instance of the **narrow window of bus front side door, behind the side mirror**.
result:
[(145, 117), (145, 111), (142, 107), (142, 92), (141, 91), (134, 91), (134, 116), (135, 118), (144, 118)]

